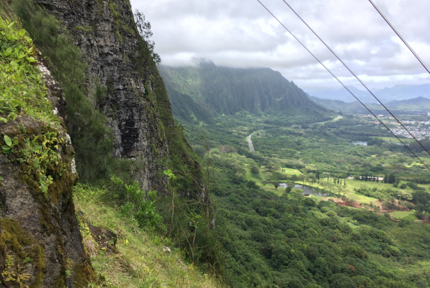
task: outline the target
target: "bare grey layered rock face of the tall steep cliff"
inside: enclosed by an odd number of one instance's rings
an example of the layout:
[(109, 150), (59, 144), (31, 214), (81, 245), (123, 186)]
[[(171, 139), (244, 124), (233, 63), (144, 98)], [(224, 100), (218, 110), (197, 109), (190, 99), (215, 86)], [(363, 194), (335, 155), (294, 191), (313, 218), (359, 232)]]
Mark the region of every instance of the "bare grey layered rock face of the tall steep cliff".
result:
[(88, 64), (88, 90), (93, 89), (93, 79), (99, 79), (106, 87), (106, 93), (93, 102), (113, 129), (114, 155), (142, 161), (143, 168), (136, 171), (136, 176), (143, 188), (164, 191), (166, 177), (162, 173), (157, 175), (157, 171), (165, 169), (168, 158), (164, 126), (173, 127), (174, 122), (171, 116), (165, 121), (159, 117), (160, 110), (171, 115), (171, 109), (167, 95), (154, 91), (157, 86), (164, 88), (157, 67), (152, 59), (136, 60), (138, 32), (129, 1), (35, 0), (35, 3), (61, 19), (72, 33), (74, 44)]

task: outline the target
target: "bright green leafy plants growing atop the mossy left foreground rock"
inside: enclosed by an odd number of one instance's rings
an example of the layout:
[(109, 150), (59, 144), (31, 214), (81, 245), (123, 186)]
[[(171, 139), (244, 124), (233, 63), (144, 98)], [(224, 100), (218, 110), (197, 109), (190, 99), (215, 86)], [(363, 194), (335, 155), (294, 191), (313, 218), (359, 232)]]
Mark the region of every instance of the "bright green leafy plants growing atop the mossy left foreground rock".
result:
[(47, 99), (42, 73), (32, 65), (36, 60), (33, 41), (24, 29), (17, 29), (15, 22), (0, 17), (0, 113), (8, 122), (17, 115), (28, 115), (34, 120), (58, 120)]

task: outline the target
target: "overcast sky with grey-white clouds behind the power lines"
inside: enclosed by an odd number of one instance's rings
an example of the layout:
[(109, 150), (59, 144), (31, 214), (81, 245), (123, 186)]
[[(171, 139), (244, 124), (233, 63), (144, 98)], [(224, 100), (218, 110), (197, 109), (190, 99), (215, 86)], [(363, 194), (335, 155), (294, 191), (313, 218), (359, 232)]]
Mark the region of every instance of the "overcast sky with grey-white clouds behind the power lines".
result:
[[(257, 0), (131, 0), (152, 25), (163, 65), (270, 67), (305, 90), (340, 88)], [(372, 88), (430, 83), (430, 75), (367, 0), (287, 0)], [(364, 88), (282, 0), (262, 0), (347, 85)], [(374, 0), (430, 65), (429, 0)]]

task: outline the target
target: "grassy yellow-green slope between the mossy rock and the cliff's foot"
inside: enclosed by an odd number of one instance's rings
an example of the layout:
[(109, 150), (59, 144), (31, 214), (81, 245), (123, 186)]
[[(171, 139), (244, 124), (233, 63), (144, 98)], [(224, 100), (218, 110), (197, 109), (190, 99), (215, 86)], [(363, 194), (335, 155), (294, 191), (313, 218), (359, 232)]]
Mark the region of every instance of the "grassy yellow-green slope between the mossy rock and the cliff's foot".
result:
[[(78, 185), (74, 203), (87, 223), (109, 229), (118, 237), (119, 253), (108, 255), (98, 250), (91, 259), (106, 287), (219, 287), (216, 280), (186, 264), (168, 239), (139, 228), (134, 219), (122, 217), (118, 209), (101, 202), (102, 193)], [(170, 247), (171, 253), (164, 252), (163, 246)]]

